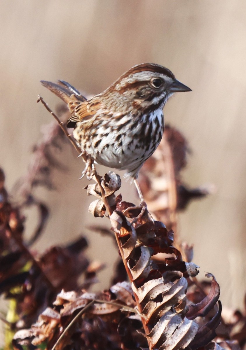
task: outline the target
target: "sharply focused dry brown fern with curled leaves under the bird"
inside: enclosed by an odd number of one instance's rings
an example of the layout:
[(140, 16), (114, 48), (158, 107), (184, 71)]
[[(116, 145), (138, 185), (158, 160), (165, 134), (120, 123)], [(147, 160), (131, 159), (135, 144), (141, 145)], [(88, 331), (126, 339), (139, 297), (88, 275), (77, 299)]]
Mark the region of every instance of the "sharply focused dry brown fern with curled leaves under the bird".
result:
[[(41, 97), (39, 100), (48, 109)], [(59, 121), (52, 111), (49, 112)], [(60, 122), (59, 125), (80, 153), (66, 128)], [(85, 155), (83, 160), (85, 162), (87, 160)], [(69, 292), (70, 294), (61, 292), (57, 295), (54, 305), (63, 308), (60, 311), (59, 308), (57, 311), (46, 309), (31, 329), (17, 332), (13, 341), (15, 348), (18, 347), (17, 341), (19, 344), (28, 344), (27, 339), (32, 339), (33, 345), (48, 340), (47, 349), (50, 349), (52, 344), (55, 344), (57, 349), (64, 348), (70, 342), (68, 328), (66, 335), (62, 333), (61, 337), (61, 334), (57, 334), (63, 317), (71, 317), (76, 310), (82, 312), (88, 303), (90, 309), (87, 312), (90, 315), (109, 316), (123, 309), (128, 314), (128, 319), (140, 320), (144, 330), (142, 335), (149, 349), (184, 349), (187, 346), (189, 349), (197, 349), (207, 345), (216, 335), (215, 329), (220, 322), (218, 283), (212, 276), (209, 294), (198, 303), (189, 305), (186, 297), (188, 287), (186, 278), (197, 275), (197, 266), (183, 261), (181, 253), (173, 246), (173, 231), (168, 231), (159, 221), (153, 223), (148, 213), (137, 218), (141, 208), (130, 209), (134, 204), (122, 201), (121, 195), (115, 196), (115, 191), (121, 186), (121, 180), (114, 172), (109, 172), (104, 177), (95, 172), (93, 178), (96, 183), (87, 186), (87, 194), (96, 196), (97, 200), (90, 204), (89, 211), (95, 217), (103, 217), (106, 212), (108, 213), (130, 285), (121, 282), (110, 288), (117, 301), (115, 303), (108, 294), (98, 297), (87, 292), (82, 292), (80, 295), (75, 292)], [(135, 220), (132, 221), (132, 218)], [(165, 259), (158, 262), (153, 260), (151, 257), (157, 253), (165, 253)], [(134, 300), (130, 297), (131, 293), (134, 295)], [(208, 320), (207, 315), (212, 310), (213, 317)], [(114, 319), (117, 317), (114, 316)], [(52, 327), (51, 321), (53, 321)], [(83, 327), (82, 321), (78, 322), (80, 327)], [(60, 342), (55, 342), (58, 335)], [(221, 349), (216, 343), (210, 343), (206, 347), (206, 349), (215, 348)]]

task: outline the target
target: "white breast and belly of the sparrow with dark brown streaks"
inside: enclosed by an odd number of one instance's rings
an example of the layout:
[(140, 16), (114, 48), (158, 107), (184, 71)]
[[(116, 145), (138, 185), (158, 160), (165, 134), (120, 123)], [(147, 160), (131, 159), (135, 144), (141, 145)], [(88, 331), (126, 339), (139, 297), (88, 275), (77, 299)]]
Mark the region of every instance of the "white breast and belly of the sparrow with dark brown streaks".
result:
[(162, 110), (141, 116), (112, 114), (96, 118), (94, 125), (74, 130), (81, 149), (93, 156), (99, 164), (129, 169), (141, 164), (155, 151), (164, 130)]

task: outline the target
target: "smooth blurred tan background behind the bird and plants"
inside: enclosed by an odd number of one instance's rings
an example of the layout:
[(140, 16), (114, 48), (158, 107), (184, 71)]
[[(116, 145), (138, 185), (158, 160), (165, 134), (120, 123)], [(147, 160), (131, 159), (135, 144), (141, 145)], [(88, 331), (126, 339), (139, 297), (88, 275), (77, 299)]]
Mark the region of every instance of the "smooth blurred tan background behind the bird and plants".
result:
[[(25, 0), (0, 2), (0, 166), (11, 190), (27, 172), (32, 146), (52, 119), (36, 104), (59, 100), (40, 80), (64, 79), (90, 93), (108, 87), (132, 65), (155, 62), (192, 88), (165, 106), (165, 121), (189, 140), (183, 176), (192, 187), (214, 183), (217, 193), (179, 216), (183, 240), (194, 244), (200, 275), (213, 273), (224, 305), (242, 307), (246, 291), (246, 2), (245, 0)], [(107, 288), (118, 253), (109, 238), (84, 229), (93, 219), (78, 181), (81, 162), (70, 146), (60, 154), (69, 170), (55, 171), (57, 191), (40, 191), (52, 216), (34, 248), (87, 232), (88, 255), (107, 262), (98, 288)], [(123, 191), (123, 190), (122, 190)], [(127, 197), (127, 198), (126, 198)], [(125, 200), (134, 200), (134, 190)], [(137, 197), (136, 197), (137, 201)], [(32, 232), (29, 222), (27, 235)]]

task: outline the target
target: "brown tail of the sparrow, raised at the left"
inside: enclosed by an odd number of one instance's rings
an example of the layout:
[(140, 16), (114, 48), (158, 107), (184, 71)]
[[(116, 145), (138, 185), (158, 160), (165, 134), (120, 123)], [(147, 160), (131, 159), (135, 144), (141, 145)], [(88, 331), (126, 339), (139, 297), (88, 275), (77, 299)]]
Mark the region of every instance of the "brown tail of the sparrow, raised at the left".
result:
[(73, 97), (81, 102), (86, 101), (86, 98), (81, 95), (81, 93), (75, 89), (72, 85), (64, 80), (58, 80), (58, 83), (46, 82), (45, 80), (41, 80), (41, 84), (50, 91), (52, 91), (56, 96), (60, 97), (65, 103), (69, 103)]

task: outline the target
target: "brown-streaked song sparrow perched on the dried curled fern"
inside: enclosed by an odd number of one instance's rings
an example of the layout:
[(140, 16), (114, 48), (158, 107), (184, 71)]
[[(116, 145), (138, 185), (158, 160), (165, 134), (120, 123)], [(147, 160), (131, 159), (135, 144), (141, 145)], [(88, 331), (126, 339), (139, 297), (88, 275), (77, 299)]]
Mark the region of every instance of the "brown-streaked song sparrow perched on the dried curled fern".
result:
[(63, 80), (41, 83), (68, 104), (67, 127), (74, 128), (77, 145), (90, 156), (83, 175), (93, 168), (93, 161), (126, 170), (142, 202), (138, 172), (162, 138), (163, 107), (173, 92), (191, 89), (169, 69), (153, 63), (132, 67), (89, 100)]

